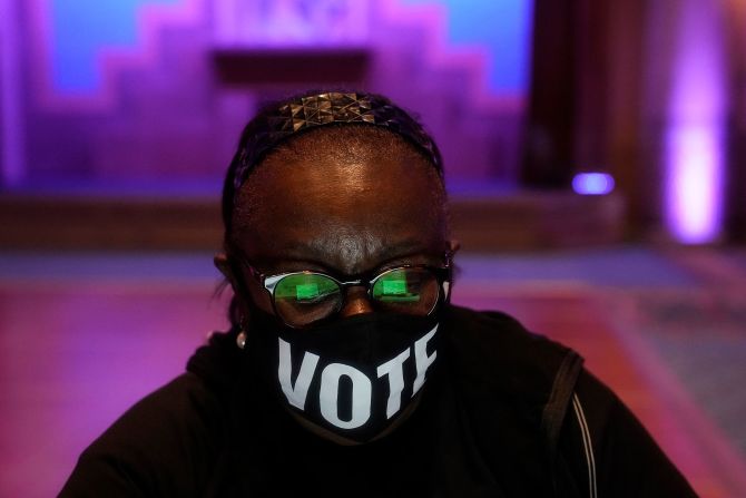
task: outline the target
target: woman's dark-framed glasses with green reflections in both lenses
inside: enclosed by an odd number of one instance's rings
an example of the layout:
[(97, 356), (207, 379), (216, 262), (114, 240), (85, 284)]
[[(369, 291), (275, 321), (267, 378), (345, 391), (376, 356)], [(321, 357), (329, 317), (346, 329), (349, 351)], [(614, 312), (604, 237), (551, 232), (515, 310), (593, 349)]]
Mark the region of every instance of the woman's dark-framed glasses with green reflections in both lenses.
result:
[(312, 271), (265, 275), (245, 261), (242, 263), (269, 293), (275, 314), (295, 329), (338, 313), (345, 290), (352, 286), (366, 287), (367, 297), (377, 311), (428, 316), (448, 300), (451, 281), (448, 254), (444, 266), (402, 265), (350, 281)]

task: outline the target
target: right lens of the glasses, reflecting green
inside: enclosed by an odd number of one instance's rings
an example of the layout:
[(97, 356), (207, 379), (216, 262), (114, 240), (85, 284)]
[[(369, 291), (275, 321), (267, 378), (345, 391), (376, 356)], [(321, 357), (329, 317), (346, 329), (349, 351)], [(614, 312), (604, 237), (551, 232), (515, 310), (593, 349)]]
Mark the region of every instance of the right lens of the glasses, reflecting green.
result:
[(397, 268), (379, 276), (372, 295), (384, 311), (426, 315), (438, 303), (439, 287), (438, 277), (426, 268)]

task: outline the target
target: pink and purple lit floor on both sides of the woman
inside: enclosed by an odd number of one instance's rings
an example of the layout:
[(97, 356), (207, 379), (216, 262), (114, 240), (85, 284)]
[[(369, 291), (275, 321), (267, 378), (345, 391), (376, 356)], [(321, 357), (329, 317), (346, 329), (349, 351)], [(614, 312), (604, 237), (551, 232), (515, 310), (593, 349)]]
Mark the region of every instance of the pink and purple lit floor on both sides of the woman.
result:
[[(703, 497), (746, 496), (746, 251), (458, 258), (454, 301), (577, 349)], [(224, 328), (209, 254), (0, 253), (0, 496), (55, 495), (79, 452)]]

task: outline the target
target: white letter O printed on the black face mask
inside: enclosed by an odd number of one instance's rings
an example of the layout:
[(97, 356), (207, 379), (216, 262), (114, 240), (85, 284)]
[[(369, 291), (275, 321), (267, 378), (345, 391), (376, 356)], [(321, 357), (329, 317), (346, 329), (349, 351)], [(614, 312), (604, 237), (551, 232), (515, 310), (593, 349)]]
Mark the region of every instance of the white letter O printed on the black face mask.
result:
[[(337, 408), (342, 375), (352, 381), (352, 418), (346, 421), (340, 419)], [(341, 429), (355, 429), (371, 418), (371, 381), (363, 372), (346, 364), (330, 363), (321, 373), (321, 414)]]

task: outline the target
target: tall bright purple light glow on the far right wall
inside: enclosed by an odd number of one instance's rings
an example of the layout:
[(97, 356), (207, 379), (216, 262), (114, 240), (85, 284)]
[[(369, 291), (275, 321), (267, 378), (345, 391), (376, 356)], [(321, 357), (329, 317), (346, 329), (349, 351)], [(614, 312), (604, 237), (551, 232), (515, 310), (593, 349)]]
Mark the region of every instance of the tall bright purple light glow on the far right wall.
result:
[(666, 130), (666, 227), (679, 242), (722, 232), (725, 150), (724, 40), (718, 2), (683, 0)]

